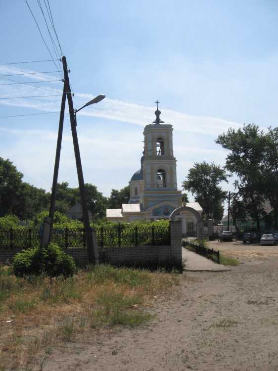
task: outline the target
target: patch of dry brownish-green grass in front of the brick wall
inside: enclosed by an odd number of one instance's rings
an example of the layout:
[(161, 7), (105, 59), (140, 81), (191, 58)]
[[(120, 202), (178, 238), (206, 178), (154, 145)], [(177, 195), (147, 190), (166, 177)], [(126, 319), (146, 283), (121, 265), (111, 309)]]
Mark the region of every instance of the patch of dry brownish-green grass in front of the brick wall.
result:
[(16, 278), (0, 267), (0, 371), (28, 370), (39, 352), (50, 354), (86, 332), (151, 320), (146, 307), (179, 279), (109, 265), (67, 279)]

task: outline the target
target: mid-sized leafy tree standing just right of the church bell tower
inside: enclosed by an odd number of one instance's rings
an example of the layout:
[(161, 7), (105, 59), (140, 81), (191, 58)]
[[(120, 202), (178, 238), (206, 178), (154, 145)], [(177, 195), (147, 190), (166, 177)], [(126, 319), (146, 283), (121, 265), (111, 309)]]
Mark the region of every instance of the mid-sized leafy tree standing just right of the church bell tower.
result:
[(220, 186), (221, 182), (228, 182), (225, 170), (214, 163), (195, 162), (186, 178), (183, 188), (193, 193), (195, 201), (204, 210), (204, 216), (220, 221), (224, 212), (223, 202), (227, 197), (227, 192)]

